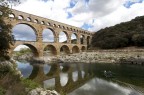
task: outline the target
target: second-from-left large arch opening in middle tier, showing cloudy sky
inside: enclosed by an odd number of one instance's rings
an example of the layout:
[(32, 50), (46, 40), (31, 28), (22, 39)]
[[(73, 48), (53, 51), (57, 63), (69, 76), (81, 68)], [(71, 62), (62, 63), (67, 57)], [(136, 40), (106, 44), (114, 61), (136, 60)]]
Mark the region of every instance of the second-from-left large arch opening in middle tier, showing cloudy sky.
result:
[(43, 42), (54, 42), (55, 32), (52, 29), (44, 29), (42, 36)]

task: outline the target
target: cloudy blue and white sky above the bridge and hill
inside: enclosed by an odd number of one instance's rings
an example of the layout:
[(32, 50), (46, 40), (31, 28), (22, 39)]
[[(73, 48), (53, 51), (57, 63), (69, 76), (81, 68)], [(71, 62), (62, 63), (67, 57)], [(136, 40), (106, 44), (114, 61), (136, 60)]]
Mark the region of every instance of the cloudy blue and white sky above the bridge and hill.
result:
[(21, 0), (14, 9), (91, 32), (144, 15), (144, 0)]

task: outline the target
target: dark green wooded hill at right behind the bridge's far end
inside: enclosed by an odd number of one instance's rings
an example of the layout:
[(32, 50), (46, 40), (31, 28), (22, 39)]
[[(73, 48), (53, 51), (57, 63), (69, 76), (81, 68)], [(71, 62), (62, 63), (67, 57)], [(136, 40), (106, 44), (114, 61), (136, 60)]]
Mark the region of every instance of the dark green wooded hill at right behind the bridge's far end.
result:
[(144, 16), (99, 30), (94, 34), (91, 46), (102, 49), (144, 46)]

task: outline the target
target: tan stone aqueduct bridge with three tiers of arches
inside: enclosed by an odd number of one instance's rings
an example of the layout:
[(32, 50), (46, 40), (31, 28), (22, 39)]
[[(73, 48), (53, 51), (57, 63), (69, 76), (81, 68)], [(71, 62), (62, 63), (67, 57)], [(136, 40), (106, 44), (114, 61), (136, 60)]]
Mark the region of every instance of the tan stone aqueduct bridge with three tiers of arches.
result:
[[(12, 10), (10, 15), (11, 16), (9, 18), (5, 19), (6, 23), (11, 24), (13, 27), (18, 24), (26, 24), (30, 26), (36, 34), (36, 41), (16, 41), (15, 45), (10, 49), (10, 54), (18, 45), (28, 46), (33, 51), (35, 57), (42, 57), (46, 47), (48, 47), (54, 55), (59, 55), (61, 51), (67, 54), (78, 53), (87, 50), (87, 46), (90, 44), (93, 35), (93, 33), (78, 27), (17, 10)], [(42, 41), (42, 32), (44, 29), (50, 29), (53, 32), (53, 43)], [(64, 32), (67, 36), (67, 41), (65, 43), (59, 42), (59, 34), (61, 31)], [(71, 43), (72, 34), (75, 34), (77, 37), (75, 44)], [(81, 41), (81, 39), (83, 39), (83, 41)]]

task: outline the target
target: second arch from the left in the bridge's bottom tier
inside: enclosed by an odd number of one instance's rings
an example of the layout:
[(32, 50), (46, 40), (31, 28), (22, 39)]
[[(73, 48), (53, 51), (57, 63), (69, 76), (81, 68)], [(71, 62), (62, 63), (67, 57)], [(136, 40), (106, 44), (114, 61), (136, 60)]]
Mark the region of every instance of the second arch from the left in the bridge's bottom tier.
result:
[(57, 55), (57, 49), (54, 45), (46, 45), (44, 47), (44, 55)]

